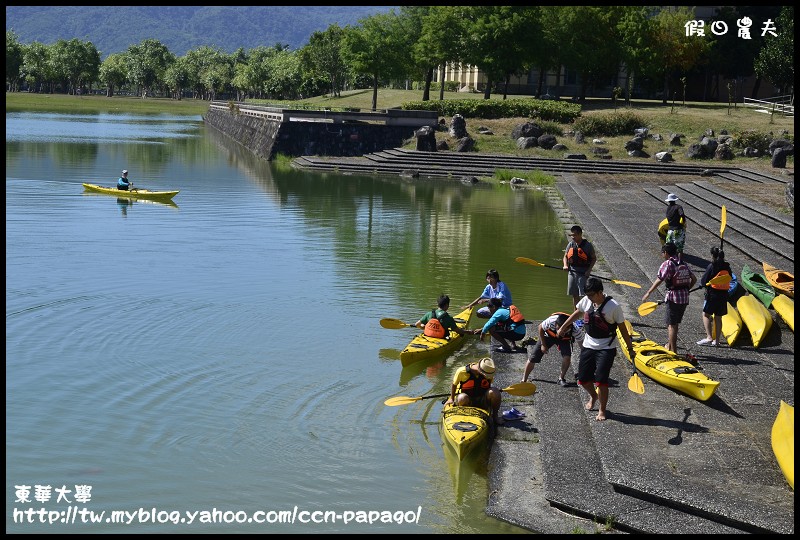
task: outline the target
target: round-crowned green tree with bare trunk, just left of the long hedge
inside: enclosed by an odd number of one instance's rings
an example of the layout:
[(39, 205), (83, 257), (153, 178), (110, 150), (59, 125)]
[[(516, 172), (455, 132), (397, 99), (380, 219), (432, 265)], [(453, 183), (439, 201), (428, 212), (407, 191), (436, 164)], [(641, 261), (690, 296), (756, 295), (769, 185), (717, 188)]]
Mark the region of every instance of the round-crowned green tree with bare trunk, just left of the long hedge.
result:
[(345, 27), (342, 55), (356, 74), (372, 78), (372, 110), (375, 110), (381, 80), (403, 78), (408, 73), (411, 43), (394, 11), (365, 17), (359, 23)]

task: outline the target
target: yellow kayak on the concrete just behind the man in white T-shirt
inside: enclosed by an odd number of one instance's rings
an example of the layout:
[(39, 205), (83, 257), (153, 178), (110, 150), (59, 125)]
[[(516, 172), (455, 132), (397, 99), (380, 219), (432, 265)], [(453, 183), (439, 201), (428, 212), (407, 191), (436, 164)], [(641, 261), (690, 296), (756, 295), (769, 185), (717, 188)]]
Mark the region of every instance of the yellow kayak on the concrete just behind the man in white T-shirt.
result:
[[(630, 321), (625, 321), (633, 338), (635, 356), (631, 359), (627, 347), (623, 347), (628, 361), (636, 365), (636, 369), (673, 390), (682, 392), (690, 397), (706, 401), (716, 392), (719, 381), (708, 377), (705, 373), (686, 361), (683, 357), (668, 351), (663, 346), (649, 339), (644, 339), (639, 332), (633, 330)], [(619, 328), (617, 335), (621, 342), (622, 334)]]

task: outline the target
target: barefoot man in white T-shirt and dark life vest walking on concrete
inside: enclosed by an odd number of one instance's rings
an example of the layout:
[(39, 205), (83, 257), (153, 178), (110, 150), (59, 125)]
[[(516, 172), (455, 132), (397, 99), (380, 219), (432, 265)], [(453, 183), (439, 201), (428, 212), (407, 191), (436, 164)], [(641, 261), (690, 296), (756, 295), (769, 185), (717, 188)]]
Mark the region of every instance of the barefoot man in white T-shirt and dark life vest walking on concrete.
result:
[(578, 384), (589, 394), (584, 408), (591, 411), (598, 403), (597, 421), (608, 414), (608, 376), (617, 355), (617, 327), (633, 358), (633, 342), (628, 328), (623, 324), (625, 314), (616, 300), (603, 292), (603, 282), (590, 277), (586, 280), (586, 296), (578, 302), (575, 311), (562, 324), (556, 336), (561, 338), (573, 331), (573, 323), (583, 317), (586, 332), (578, 361)]

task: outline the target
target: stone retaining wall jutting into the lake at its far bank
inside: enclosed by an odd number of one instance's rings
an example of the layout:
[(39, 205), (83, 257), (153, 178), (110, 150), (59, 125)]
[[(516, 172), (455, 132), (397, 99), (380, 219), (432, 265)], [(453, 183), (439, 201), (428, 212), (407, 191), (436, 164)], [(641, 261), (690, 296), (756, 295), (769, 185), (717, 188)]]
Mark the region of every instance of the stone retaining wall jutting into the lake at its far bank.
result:
[(219, 108), (209, 108), (203, 119), (266, 160), (277, 154), (361, 156), (402, 146), (417, 129), (366, 122), (278, 122)]

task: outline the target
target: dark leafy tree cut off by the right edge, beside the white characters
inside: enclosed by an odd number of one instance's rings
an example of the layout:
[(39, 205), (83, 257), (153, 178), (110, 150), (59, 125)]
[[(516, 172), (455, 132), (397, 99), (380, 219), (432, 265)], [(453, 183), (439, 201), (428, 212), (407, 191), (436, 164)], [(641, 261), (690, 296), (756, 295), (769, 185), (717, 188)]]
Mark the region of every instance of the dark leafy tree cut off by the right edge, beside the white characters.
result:
[(755, 61), (755, 71), (780, 89), (794, 90), (794, 7), (783, 6), (775, 21), (777, 37), (767, 39)]

